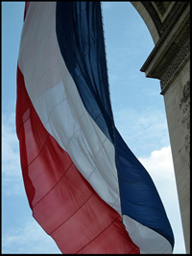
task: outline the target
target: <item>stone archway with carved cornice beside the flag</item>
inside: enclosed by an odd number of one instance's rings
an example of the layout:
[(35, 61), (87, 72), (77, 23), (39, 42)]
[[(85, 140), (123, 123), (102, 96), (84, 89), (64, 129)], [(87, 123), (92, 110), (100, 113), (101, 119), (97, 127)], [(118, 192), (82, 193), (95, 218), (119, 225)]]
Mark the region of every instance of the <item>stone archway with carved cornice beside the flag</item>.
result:
[(155, 42), (140, 70), (160, 80), (186, 253), (190, 253), (190, 2), (131, 3)]

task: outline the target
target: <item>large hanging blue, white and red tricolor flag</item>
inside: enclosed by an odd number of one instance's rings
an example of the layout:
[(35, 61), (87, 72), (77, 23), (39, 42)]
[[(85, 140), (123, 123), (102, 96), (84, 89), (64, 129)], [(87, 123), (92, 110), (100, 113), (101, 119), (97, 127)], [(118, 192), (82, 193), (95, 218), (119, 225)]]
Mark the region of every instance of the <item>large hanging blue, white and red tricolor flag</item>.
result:
[(156, 187), (114, 125), (100, 2), (26, 4), (16, 132), (33, 216), (62, 253), (172, 253)]

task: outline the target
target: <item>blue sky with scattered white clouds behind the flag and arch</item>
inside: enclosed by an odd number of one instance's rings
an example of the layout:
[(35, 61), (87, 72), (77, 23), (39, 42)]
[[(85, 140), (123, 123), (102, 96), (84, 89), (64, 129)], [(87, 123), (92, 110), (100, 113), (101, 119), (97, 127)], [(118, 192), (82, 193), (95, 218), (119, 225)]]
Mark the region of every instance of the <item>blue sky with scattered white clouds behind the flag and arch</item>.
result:
[[(116, 127), (156, 184), (175, 235), (173, 253), (185, 253), (160, 83), (139, 71), (153, 38), (130, 2), (102, 2), (102, 10)], [(15, 102), (23, 13), (24, 2), (2, 2), (2, 253), (60, 253), (32, 217), (21, 174)]]

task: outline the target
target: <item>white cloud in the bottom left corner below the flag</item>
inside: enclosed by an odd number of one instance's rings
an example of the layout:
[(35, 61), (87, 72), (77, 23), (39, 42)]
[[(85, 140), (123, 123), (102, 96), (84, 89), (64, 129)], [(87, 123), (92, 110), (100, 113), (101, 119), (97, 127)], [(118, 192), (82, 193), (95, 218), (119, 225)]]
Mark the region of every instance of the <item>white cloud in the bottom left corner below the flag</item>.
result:
[(31, 218), (22, 228), (12, 228), (3, 236), (3, 253), (61, 253), (54, 240)]

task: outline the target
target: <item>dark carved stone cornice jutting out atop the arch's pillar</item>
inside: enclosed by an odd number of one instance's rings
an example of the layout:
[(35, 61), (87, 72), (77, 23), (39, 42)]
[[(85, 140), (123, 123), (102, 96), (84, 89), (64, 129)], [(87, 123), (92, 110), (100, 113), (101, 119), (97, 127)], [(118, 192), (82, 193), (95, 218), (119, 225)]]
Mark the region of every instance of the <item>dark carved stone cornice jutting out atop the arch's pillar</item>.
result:
[(147, 77), (161, 80), (162, 93), (190, 55), (190, 3), (184, 3), (140, 69)]

